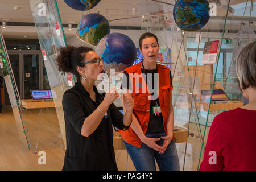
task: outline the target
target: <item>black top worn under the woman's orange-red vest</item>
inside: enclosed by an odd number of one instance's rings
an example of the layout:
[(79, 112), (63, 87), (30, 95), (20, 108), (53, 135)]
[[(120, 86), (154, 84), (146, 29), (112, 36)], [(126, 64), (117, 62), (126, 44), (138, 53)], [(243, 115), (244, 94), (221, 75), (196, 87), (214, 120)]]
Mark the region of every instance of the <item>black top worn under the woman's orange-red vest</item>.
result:
[[(152, 81), (150, 83), (150, 86), (149, 86), (149, 89), (152, 88), (152, 91), (150, 90), (151, 92), (151, 96), (154, 95), (154, 84), (155, 84), (155, 81), (154, 81), (154, 76), (155, 76), (155, 73), (158, 73), (158, 69), (145, 69), (146, 72), (144, 72), (144, 69), (141, 68), (141, 72), (142, 73), (145, 73), (143, 76), (144, 76), (144, 80), (146, 80), (146, 83), (148, 85), (148, 74), (152, 74)], [(146, 74), (147, 73), (147, 74)], [(130, 77), (128, 75), (128, 73), (125, 71), (123, 72), (123, 74), (126, 76), (126, 80), (122, 80), (122, 86), (121, 88), (129, 88), (131, 90), (131, 81), (130, 81)], [(146, 78), (147, 76), (147, 78)], [(170, 72), (170, 78), (171, 78), (171, 85), (172, 85), (172, 76), (171, 76), (171, 72)], [(160, 106), (159, 104), (159, 99), (157, 98), (156, 100), (150, 100), (150, 119), (149, 119), (149, 122), (148, 122), (148, 127), (147, 127), (147, 133), (148, 132), (160, 132), (160, 131), (164, 131), (164, 127), (163, 127), (163, 115), (162, 113), (159, 113), (159, 116), (155, 116), (155, 114), (153, 113), (153, 107), (155, 107), (156, 105)]]

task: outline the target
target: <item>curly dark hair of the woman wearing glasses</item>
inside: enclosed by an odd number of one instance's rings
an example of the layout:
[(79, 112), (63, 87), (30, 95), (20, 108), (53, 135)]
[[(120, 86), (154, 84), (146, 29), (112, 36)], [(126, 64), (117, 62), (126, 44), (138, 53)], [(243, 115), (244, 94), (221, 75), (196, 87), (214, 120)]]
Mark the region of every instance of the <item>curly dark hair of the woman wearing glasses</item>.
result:
[(76, 76), (76, 79), (79, 80), (80, 75), (79, 72), (77, 72), (76, 67), (82, 67), (86, 53), (89, 51), (93, 51), (93, 49), (84, 46), (60, 47), (59, 55), (56, 58), (59, 71), (61, 71), (62, 74), (73, 73)]

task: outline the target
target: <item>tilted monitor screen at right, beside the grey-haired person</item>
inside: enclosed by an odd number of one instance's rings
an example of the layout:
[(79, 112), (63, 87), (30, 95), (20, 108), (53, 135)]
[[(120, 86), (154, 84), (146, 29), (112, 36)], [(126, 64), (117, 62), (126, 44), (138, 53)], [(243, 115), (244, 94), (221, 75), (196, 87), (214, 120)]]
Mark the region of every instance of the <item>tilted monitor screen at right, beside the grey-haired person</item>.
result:
[(221, 89), (219, 90), (200, 90), (201, 94), (204, 96), (205, 101), (210, 101), (210, 96), (212, 94), (212, 101), (227, 101), (230, 98), (225, 94), (225, 92)]

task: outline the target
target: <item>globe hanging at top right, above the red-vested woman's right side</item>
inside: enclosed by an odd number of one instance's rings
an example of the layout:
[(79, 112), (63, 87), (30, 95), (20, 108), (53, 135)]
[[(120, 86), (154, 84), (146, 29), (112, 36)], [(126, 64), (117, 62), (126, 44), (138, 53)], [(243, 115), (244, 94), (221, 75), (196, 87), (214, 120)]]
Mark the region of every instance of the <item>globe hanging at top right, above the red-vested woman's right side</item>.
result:
[(209, 3), (207, 0), (179, 0), (176, 1), (173, 15), (177, 26), (184, 31), (197, 31), (207, 24)]

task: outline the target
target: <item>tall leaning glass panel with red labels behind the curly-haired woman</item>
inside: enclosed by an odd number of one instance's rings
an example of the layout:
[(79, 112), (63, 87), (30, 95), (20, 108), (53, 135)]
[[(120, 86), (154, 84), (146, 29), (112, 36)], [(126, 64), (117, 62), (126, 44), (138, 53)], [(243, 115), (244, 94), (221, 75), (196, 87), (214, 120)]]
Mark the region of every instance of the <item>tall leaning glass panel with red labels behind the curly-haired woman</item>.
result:
[[(39, 3), (44, 6), (43, 11), (45, 11), (45, 15), (40, 14), (40, 12), (42, 13), (42, 8), (38, 6)], [(64, 144), (66, 144), (64, 114), (61, 100), (65, 90), (71, 88), (75, 83), (75, 77), (72, 76), (73, 80), (72, 84), (70, 85), (68, 83), (67, 76), (62, 75), (58, 71), (55, 61), (57, 53), (59, 53), (59, 48), (67, 45), (57, 2), (55, 0), (30, 0), (30, 6), (36, 31), (38, 33), (38, 39), (42, 50), (49, 85), (51, 86), (52, 92), (55, 92), (57, 96), (57, 98), (54, 98), (53, 101), (55, 102), (55, 109)], [(46, 78), (43, 78), (43, 80), (46, 80)]]

